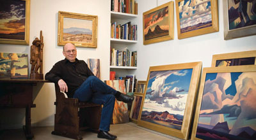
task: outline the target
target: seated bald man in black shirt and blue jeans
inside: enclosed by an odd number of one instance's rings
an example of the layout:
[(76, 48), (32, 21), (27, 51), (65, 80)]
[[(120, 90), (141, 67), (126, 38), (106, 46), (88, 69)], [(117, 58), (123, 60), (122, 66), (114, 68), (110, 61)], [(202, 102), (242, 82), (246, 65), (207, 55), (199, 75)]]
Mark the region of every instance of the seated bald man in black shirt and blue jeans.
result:
[(79, 101), (90, 101), (103, 104), (99, 127), (99, 138), (116, 139), (109, 134), (109, 125), (112, 120), (115, 98), (118, 101), (132, 102), (134, 97), (122, 94), (106, 85), (88, 68), (83, 60), (76, 59), (76, 46), (67, 43), (63, 46), (64, 60), (57, 62), (47, 74), (45, 80), (58, 83), (61, 92), (67, 92), (68, 97)]

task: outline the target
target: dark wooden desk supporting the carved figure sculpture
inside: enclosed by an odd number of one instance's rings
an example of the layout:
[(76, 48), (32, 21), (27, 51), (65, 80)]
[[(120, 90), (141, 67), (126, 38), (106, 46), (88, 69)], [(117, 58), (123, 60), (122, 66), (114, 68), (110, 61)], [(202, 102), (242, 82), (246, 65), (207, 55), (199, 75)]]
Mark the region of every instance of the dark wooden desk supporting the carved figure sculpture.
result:
[(31, 132), (31, 108), (33, 86), (37, 83), (50, 83), (47, 80), (0, 80), (0, 108), (26, 108), (26, 125), (23, 130), (27, 139), (34, 137)]

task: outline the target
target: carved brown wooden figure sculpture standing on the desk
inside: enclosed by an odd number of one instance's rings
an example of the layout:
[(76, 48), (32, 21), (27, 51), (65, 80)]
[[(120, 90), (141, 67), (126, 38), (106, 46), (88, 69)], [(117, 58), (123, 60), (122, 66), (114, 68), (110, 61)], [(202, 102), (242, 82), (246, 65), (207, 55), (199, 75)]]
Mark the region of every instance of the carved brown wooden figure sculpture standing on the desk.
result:
[[(30, 48), (30, 64), (31, 73), (30, 79), (32, 80), (44, 80), (43, 72), (43, 48), (44, 48), (44, 36), (40, 31), (40, 39), (35, 38)], [(40, 73), (38, 69), (40, 68)]]

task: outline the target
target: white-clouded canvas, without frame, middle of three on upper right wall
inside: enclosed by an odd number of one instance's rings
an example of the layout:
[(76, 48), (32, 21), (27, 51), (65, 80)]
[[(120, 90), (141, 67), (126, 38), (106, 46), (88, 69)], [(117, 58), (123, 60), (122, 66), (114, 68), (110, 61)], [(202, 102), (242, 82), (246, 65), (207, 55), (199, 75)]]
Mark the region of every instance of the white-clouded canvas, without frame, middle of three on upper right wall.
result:
[(212, 26), (211, 0), (179, 2), (180, 33)]

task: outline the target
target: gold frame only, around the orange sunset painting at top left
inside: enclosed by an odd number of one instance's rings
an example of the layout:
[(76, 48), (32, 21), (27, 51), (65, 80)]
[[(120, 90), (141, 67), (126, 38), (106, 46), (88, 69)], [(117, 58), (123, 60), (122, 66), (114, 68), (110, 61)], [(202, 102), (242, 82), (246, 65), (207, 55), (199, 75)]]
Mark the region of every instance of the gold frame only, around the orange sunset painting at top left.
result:
[(30, 0), (26, 1), (26, 19), (25, 19), (25, 39), (0, 39), (1, 44), (13, 44), (13, 45), (29, 45), (29, 22), (30, 22)]

